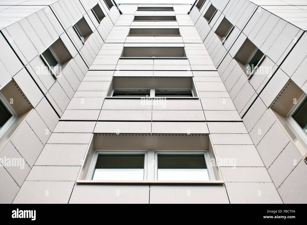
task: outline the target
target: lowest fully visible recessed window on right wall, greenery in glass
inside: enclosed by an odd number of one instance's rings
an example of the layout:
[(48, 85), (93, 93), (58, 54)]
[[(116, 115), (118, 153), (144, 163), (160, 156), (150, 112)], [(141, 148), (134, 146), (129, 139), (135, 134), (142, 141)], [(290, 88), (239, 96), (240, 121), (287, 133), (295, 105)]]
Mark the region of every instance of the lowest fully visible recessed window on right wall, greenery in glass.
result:
[(249, 39), (243, 43), (234, 59), (239, 64), (247, 77), (255, 73), (265, 54), (260, 51)]

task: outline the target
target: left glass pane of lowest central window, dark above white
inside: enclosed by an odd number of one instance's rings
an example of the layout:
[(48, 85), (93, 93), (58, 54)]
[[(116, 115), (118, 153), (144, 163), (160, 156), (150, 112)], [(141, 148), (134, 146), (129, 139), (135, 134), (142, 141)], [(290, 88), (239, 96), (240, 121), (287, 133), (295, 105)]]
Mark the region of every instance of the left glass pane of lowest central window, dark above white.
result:
[(143, 180), (144, 154), (99, 154), (92, 180)]

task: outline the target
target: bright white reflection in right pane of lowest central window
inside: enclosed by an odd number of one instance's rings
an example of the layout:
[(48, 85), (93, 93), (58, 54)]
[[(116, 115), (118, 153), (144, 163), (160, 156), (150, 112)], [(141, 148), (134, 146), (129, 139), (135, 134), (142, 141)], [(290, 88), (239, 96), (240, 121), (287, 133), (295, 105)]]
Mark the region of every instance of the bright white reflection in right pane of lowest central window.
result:
[(208, 181), (207, 169), (158, 169), (161, 181)]

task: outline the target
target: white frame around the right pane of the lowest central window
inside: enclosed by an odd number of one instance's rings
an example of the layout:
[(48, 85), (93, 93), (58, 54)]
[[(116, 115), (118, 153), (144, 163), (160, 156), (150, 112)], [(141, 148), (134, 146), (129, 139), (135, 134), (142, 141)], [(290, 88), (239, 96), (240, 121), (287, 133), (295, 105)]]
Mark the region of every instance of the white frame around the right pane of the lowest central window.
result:
[(158, 150), (154, 152), (154, 179), (156, 181), (158, 180), (158, 154), (174, 154), (174, 155), (179, 155), (179, 154), (183, 154), (183, 155), (200, 155), (200, 154), (204, 154), (204, 158), (205, 158), (205, 163), (207, 166), (207, 171), (208, 171), (208, 175), (209, 175), (209, 180), (208, 181), (215, 181), (215, 176), (214, 176), (214, 172), (211, 166), (211, 161), (210, 161), (210, 157), (209, 157), (209, 153), (208, 150)]

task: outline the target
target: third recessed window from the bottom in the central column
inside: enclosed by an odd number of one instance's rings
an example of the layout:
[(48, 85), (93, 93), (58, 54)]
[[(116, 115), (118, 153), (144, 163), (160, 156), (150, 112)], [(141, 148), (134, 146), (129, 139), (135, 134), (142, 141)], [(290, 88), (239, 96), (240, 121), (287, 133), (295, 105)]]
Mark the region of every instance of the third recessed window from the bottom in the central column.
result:
[(187, 58), (184, 47), (124, 47), (124, 58)]

